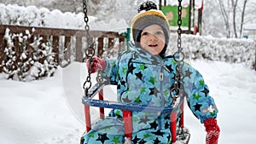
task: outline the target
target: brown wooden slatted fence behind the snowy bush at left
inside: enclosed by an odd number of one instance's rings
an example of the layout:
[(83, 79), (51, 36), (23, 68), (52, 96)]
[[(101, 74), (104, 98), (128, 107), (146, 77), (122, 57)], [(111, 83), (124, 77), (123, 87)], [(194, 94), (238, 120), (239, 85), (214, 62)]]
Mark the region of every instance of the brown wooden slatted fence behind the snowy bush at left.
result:
[[(86, 49), (87, 42), (85, 30), (0, 25), (0, 65), (7, 58), (4, 53), (4, 49), (7, 47), (7, 40), (4, 38), (7, 29), (10, 33), (22, 33), (23, 35), (27, 32), (30, 33), (32, 36), (27, 39), (27, 49), (30, 49), (31, 45), (29, 43), (33, 43), (35, 36), (42, 37), (43, 43), (51, 43), (52, 52), (56, 54), (54, 59), (57, 65), (60, 65), (62, 60), (70, 62), (71, 56), (76, 61), (83, 61), (85, 58), (84, 49)], [(96, 43), (96, 55), (102, 55), (104, 50), (113, 48), (116, 42), (122, 43), (125, 41), (125, 37), (118, 32), (90, 31), (90, 37)], [(19, 39), (15, 38), (13, 43), (15, 50), (18, 51), (16, 56), (19, 57), (22, 53), (19, 49)], [(2, 66), (0, 66), (0, 72), (3, 72)]]

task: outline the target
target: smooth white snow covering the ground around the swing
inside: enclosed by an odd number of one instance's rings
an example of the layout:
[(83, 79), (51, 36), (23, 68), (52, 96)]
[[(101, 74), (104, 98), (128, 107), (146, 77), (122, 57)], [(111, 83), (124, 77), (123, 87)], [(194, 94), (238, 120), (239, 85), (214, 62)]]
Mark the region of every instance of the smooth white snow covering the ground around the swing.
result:
[[(256, 72), (241, 64), (189, 61), (205, 78), (218, 104), (220, 144), (256, 141)], [(40, 81), (0, 81), (0, 143), (75, 144), (84, 132), (82, 85), (87, 76), (84, 63), (58, 68), (55, 76)], [(113, 88), (105, 89), (112, 95)], [(94, 109), (93, 109), (94, 111)], [(190, 144), (205, 143), (206, 132), (185, 107)], [(92, 118), (96, 119), (96, 112)]]

